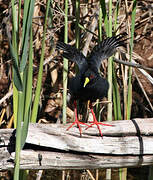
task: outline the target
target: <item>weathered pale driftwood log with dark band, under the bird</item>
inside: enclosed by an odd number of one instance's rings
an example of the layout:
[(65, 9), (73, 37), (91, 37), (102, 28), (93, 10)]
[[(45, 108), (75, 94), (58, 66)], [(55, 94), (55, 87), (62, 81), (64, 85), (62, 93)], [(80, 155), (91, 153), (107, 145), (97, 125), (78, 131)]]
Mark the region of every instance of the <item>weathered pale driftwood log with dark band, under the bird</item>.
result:
[[(94, 169), (153, 164), (153, 118), (107, 122), (80, 137), (76, 127), (30, 124), (21, 169)], [(0, 170), (14, 167), (15, 130), (0, 129)]]

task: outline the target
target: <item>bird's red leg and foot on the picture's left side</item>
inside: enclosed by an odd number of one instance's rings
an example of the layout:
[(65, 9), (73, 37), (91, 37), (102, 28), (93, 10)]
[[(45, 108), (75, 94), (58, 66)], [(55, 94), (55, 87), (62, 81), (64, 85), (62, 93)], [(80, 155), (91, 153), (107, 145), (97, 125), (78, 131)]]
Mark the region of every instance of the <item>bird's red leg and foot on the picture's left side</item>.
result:
[(80, 132), (80, 136), (82, 135), (82, 130), (81, 130), (81, 127), (80, 127), (80, 124), (83, 124), (83, 125), (86, 125), (86, 126), (89, 126), (88, 124), (85, 124), (83, 122), (80, 122), (78, 120), (78, 115), (77, 115), (77, 102), (74, 101), (74, 115), (75, 115), (75, 121), (71, 124), (71, 126), (69, 126), (66, 130), (68, 131), (72, 126), (74, 126), (75, 124), (77, 124), (77, 127), (79, 128), (79, 132)]

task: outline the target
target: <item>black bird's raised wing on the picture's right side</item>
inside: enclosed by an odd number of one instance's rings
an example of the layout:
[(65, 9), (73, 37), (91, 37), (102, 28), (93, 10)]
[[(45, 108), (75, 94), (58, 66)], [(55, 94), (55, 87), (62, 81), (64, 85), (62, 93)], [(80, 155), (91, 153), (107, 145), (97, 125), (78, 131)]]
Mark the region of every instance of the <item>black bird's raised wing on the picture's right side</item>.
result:
[(115, 53), (117, 47), (125, 46), (125, 40), (127, 39), (124, 37), (126, 35), (126, 33), (122, 33), (117, 36), (106, 38), (97, 44), (88, 57), (89, 65), (99, 69), (102, 60), (112, 56)]

